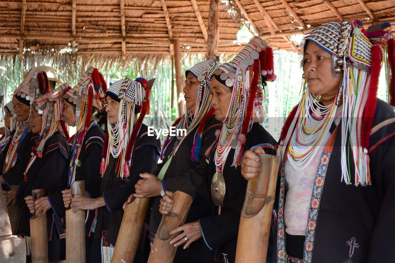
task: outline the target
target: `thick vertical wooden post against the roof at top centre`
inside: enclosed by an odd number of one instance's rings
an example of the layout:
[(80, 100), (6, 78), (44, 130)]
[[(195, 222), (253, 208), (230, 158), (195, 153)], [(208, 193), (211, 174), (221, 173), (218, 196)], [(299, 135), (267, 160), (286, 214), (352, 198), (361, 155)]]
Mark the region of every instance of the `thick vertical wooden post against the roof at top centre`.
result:
[(218, 56), (218, 38), (219, 38), (219, 0), (210, 0), (209, 9), (209, 35), (207, 40), (207, 59), (213, 55)]

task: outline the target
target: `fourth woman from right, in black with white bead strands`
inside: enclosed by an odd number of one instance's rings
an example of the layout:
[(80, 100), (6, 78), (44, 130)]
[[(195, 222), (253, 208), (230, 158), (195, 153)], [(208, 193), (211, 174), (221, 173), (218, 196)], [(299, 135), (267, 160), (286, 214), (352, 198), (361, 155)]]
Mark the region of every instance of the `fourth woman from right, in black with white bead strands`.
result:
[[(134, 193), (139, 174), (152, 172), (158, 163), (160, 141), (148, 136), (148, 127), (142, 123), (149, 113), (152, 84), (153, 81), (143, 78), (137, 81), (123, 78), (105, 93), (108, 133), (103, 147), (99, 197), (75, 195), (70, 204), (74, 211), (98, 208), (89, 262), (111, 261), (124, 214), (122, 205)], [(141, 256), (136, 253), (136, 262)]]

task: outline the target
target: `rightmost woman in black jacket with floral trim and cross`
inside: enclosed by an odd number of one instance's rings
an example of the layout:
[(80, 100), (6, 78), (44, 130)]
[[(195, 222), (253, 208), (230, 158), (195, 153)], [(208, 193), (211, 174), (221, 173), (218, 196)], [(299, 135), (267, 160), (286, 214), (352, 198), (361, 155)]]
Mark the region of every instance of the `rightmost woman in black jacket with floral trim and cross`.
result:
[[(278, 146), (272, 262), (394, 261), (395, 113), (376, 98), (383, 59), (394, 69), (389, 32), (389, 23), (344, 20), (305, 37), (305, 91)], [(256, 155), (243, 158), (242, 175), (256, 176)]]

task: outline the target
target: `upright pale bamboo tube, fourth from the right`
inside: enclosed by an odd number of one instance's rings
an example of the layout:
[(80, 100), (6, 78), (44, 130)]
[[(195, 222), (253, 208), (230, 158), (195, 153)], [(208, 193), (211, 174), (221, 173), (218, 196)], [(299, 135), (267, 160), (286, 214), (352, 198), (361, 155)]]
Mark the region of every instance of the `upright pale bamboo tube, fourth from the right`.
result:
[[(85, 194), (85, 181), (75, 181), (71, 185), (73, 196)], [(73, 212), (73, 207), (66, 210), (66, 261), (85, 263), (85, 210)]]

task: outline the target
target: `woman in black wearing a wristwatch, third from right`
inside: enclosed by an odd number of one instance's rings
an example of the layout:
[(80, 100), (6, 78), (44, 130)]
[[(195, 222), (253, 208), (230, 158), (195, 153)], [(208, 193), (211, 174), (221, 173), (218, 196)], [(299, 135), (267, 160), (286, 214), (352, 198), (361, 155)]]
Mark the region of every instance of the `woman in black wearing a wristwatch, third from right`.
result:
[[(200, 62), (185, 71), (186, 85), (183, 89), (186, 101), (184, 115), (175, 121), (172, 127), (185, 129), (186, 134), (167, 136), (162, 149), (163, 162), (153, 172), (141, 175), (135, 185), (136, 198), (152, 197), (150, 200), (149, 233), (150, 241), (158, 229), (162, 215), (159, 213), (159, 203), (165, 191), (176, 190), (190, 194), (196, 198), (196, 190), (205, 181), (207, 148), (215, 140), (215, 131), (222, 123), (214, 118), (211, 108), (209, 80), (213, 71), (220, 65), (213, 56), (211, 60)], [(128, 201), (132, 200), (129, 196)], [(210, 213), (209, 203), (200, 198), (195, 199), (186, 222), (194, 222)], [(205, 262), (211, 257), (211, 252), (203, 241), (195, 242), (188, 251), (180, 248), (173, 262), (186, 262), (190, 258)]]

